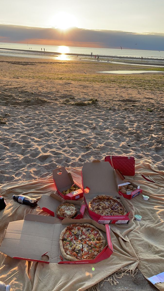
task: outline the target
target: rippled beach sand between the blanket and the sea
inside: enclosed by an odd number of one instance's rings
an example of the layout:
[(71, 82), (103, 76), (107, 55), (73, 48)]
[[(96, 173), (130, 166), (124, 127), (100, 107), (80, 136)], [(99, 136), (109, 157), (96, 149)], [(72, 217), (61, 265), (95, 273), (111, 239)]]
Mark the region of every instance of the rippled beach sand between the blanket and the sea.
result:
[[(0, 184), (110, 154), (146, 157), (164, 168), (164, 72), (97, 73), (109, 70), (157, 68), (0, 57)], [(118, 286), (100, 290), (135, 290)]]

